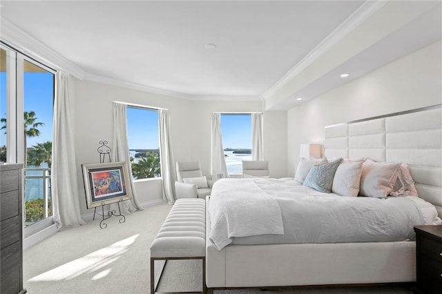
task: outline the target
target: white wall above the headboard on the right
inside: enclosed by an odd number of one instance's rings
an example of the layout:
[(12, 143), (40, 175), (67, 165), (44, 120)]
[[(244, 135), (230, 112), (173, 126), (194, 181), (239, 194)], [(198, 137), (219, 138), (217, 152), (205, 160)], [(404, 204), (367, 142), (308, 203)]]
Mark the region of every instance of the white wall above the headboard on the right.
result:
[(324, 127), (442, 103), (441, 41), (340, 86), (287, 112), (287, 172), (294, 177), (299, 146), (323, 144)]

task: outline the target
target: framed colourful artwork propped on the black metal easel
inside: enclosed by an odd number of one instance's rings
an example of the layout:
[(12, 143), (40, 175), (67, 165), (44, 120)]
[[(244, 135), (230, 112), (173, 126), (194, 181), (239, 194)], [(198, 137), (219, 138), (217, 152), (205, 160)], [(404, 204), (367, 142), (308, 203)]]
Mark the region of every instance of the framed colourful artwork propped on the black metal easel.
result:
[(81, 164), (81, 170), (88, 209), (132, 198), (126, 162)]

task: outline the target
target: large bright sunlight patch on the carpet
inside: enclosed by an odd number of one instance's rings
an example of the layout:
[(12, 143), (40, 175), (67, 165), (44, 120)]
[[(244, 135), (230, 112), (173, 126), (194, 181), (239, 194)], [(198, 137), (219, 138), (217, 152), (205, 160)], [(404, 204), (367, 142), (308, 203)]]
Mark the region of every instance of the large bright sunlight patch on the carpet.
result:
[[(135, 239), (140, 234), (133, 235), (126, 239), (122, 239), (119, 242), (107, 246), (106, 248), (99, 249), (93, 253), (80, 257), (71, 262), (52, 268), (46, 273), (41, 273), (35, 277), (30, 278), (29, 282), (45, 282), (45, 281), (63, 281), (72, 280), (79, 275), (85, 273), (94, 273), (99, 271), (104, 266), (115, 262), (123, 253), (128, 251), (128, 247), (135, 242)], [(94, 278), (102, 278), (108, 275), (108, 271), (97, 273)], [(98, 277), (97, 277), (98, 276)]]

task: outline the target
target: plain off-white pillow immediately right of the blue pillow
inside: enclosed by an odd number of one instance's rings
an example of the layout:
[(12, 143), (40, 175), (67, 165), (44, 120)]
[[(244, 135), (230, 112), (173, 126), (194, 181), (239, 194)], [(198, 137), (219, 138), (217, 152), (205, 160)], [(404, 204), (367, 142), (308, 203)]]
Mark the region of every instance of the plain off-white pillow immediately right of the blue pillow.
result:
[(358, 196), (361, 175), (362, 161), (344, 159), (334, 174), (332, 192), (341, 196)]

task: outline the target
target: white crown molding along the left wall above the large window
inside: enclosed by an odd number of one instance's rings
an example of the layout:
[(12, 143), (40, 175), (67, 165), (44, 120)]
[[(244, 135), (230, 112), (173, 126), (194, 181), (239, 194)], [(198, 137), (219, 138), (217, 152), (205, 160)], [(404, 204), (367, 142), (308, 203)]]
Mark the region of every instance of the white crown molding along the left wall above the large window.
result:
[(86, 74), (75, 63), (59, 55), (58, 52), (41, 43), (4, 17), (1, 17), (1, 40), (46, 66), (69, 72), (70, 75), (78, 79), (83, 79)]

